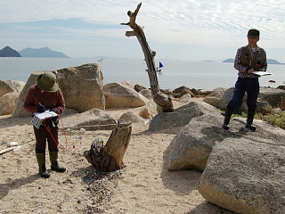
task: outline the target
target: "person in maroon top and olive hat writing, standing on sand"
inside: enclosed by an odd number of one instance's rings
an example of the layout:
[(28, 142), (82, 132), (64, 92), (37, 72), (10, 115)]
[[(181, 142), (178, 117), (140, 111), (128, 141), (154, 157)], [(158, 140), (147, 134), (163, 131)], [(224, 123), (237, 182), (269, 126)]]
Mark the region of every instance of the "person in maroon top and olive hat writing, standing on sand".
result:
[[(46, 110), (61, 114), (65, 109), (65, 101), (58, 86), (56, 76), (53, 72), (45, 72), (37, 78), (37, 84), (30, 86), (25, 98), (24, 109), (31, 112), (45, 112)], [(51, 169), (57, 172), (64, 172), (66, 169), (60, 167), (58, 159), (58, 117), (45, 119), (37, 129), (34, 127), (36, 136), (36, 157), (41, 177), (48, 178), (50, 174), (45, 168), (45, 146), (48, 143), (48, 150), (51, 161)]]

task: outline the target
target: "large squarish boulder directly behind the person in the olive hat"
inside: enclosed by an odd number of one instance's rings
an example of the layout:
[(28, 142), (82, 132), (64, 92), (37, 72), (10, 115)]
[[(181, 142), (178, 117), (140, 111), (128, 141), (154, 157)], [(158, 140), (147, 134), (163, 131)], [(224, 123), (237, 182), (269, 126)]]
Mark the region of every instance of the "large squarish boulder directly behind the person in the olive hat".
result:
[[(47, 70), (33, 72), (28, 82), (20, 92), (12, 118), (30, 117), (30, 113), (23, 108), (25, 97), (30, 86), (37, 84), (37, 77)], [(77, 112), (84, 112), (94, 108), (105, 110), (105, 97), (102, 92), (102, 70), (100, 65), (85, 64), (62, 70), (55, 70), (57, 80), (64, 96), (67, 108)]]

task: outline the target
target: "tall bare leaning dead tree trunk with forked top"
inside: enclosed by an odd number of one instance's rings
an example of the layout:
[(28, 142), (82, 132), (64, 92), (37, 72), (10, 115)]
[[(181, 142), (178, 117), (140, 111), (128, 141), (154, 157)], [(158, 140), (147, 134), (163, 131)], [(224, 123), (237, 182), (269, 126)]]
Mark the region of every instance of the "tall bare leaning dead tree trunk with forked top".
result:
[(141, 5), (142, 3), (138, 4), (134, 12), (128, 11), (127, 15), (130, 17), (130, 21), (128, 23), (121, 23), (121, 25), (128, 25), (131, 27), (131, 29), (134, 29), (132, 31), (126, 31), (126, 37), (136, 36), (140, 45), (142, 46), (142, 52), (144, 54), (145, 62), (148, 67), (148, 74), (151, 84), (151, 95), (154, 102), (162, 108), (163, 112), (171, 112), (174, 111), (173, 103), (170, 97), (163, 94), (159, 88), (159, 81), (154, 63), (154, 56), (156, 53), (151, 51), (142, 28), (135, 23), (135, 18), (141, 8)]

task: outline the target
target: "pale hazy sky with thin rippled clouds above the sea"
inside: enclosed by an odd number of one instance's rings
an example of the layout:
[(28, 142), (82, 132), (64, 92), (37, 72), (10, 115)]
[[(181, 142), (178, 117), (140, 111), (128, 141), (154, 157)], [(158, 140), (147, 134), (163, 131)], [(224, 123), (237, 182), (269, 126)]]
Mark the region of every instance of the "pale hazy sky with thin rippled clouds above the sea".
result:
[[(136, 37), (126, 37), (127, 11), (140, 1), (0, 0), (0, 49), (49, 47), (72, 58), (143, 59)], [(260, 30), (268, 59), (285, 62), (285, 0), (145, 0), (136, 23), (155, 59), (221, 60)]]

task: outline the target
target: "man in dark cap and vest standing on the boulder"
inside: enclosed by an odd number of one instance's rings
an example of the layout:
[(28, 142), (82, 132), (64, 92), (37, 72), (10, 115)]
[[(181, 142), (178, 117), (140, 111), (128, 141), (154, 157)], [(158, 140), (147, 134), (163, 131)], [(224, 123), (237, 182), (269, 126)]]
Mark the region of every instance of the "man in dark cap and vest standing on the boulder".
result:
[(232, 112), (235, 108), (240, 107), (242, 98), (245, 92), (248, 94), (248, 119), (246, 128), (252, 131), (256, 131), (256, 127), (252, 126), (252, 122), (256, 112), (256, 100), (259, 94), (259, 76), (253, 72), (266, 71), (266, 53), (265, 50), (257, 46), (259, 41), (259, 30), (248, 30), (248, 45), (242, 46), (238, 49), (235, 60), (234, 68), (239, 70), (239, 78), (235, 83), (235, 88), (232, 95), (232, 100), (227, 104), (226, 111), (224, 113), (224, 125), (223, 128), (228, 130), (229, 122), (232, 116)]

